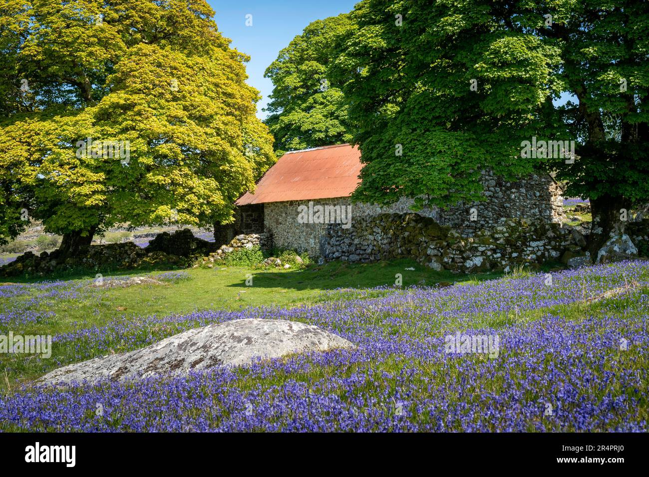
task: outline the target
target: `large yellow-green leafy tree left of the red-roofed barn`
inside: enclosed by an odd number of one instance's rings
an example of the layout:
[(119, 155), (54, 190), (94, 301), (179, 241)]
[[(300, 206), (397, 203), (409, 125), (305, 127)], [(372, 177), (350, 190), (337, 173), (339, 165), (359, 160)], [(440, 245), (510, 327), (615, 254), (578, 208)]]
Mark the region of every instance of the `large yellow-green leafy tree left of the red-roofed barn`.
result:
[(248, 58), (212, 16), (204, 0), (0, 4), (0, 239), (24, 210), (67, 254), (118, 223), (232, 219), (275, 156)]

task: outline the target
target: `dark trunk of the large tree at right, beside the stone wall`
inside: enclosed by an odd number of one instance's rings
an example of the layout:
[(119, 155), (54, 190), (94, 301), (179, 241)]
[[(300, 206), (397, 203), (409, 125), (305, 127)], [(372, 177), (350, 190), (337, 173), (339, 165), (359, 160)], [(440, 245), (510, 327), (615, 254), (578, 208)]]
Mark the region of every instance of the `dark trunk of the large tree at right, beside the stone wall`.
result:
[(593, 262), (597, 260), (597, 252), (612, 237), (624, 233), (626, 221), (621, 219), (622, 209), (626, 209), (626, 214), (630, 219), (628, 206), (624, 205), (622, 197), (611, 197), (602, 195), (597, 199), (591, 199), (591, 214), (593, 223), (591, 224), (591, 234), (588, 238), (588, 251), (591, 253)]

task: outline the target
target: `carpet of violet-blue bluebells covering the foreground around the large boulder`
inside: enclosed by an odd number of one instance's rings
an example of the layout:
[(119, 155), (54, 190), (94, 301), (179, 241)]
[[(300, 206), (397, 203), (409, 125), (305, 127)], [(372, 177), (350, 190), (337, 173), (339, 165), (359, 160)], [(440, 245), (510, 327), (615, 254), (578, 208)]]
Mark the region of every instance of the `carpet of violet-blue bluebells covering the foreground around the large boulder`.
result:
[[(85, 293), (71, 282), (38, 287), (34, 300)], [(597, 299), (611, 289), (618, 293)], [(0, 298), (25, 290), (0, 286)], [(649, 262), (621, 262), (551, 280), (329, 291), (319, 304), (289, 309), (122, 317), (58, 334), (50, 360), (31, 358), (45, 373), (251, 317), (315, 324), (358, 348), (178, 378), (23, 385), (0, 397), (0, 430), (646, 432), (648, 314)], [(0, 334), (48, 319), (6, 309)], [(497, 335), (498, 357), (447, 352), (445, 337), (456, 331)]]

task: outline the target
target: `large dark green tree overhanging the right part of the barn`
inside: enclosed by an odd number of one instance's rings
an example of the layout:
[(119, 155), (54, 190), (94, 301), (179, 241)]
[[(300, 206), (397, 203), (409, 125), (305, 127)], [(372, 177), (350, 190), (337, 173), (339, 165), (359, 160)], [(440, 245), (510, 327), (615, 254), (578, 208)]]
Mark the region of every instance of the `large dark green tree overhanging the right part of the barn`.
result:
[[(645, 1), (364, 0), (352, 15), (333, 77), (365, 162), (357, 199), (444, 206), (480, 199), (482, 169), (543, 167), (591, 198), (591, 252), (649, 201)], [(533, 138), (576, 141), (574, 164), (522, 157)]]

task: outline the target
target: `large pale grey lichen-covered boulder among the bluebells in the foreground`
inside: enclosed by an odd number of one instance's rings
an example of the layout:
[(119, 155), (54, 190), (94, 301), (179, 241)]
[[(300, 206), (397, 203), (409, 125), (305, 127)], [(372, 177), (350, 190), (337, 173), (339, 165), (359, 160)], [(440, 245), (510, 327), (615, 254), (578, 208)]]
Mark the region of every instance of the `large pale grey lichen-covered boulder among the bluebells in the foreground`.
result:
[(37, 383), (178, 376), (218, 365), (246, 365), (260, 358), (355, 347), (347, 339), (312, 324), (241, 319), (208, 324), (142, 349), (68, 365), (45, 374)]

